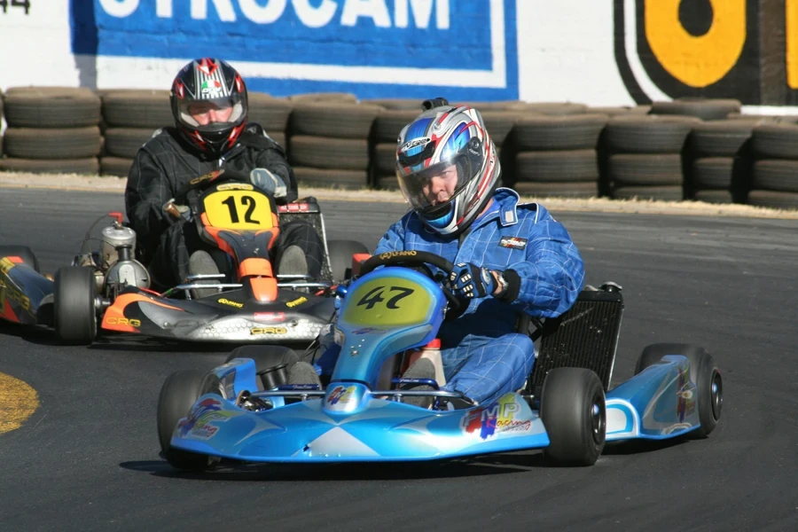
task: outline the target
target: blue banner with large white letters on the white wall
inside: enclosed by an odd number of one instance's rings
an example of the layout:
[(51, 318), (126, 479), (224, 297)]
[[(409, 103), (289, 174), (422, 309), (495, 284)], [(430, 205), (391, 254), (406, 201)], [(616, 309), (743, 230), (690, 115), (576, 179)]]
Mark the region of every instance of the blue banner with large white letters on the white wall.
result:
[(514, 0), (71, 0), (74, 53), (237, 66), (251, 90), (518, 98)]

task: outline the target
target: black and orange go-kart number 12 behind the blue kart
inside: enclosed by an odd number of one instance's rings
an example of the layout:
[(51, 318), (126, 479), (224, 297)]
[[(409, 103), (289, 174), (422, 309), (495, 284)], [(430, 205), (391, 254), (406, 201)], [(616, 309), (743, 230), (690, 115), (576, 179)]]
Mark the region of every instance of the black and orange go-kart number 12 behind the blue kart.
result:
[[(194, 179), (176, 201), (190, 207), (200, 237), (230, 262), (234, 271), (227, 279), (224, 273), (190, 276), (182, 285), (154, 292), (149, 271), (135, 258), (135, 231), (122, 223), (121, 213), (110, 213), (114, 221), (103, 229), (100, 249), (91, 250), (87, 233), (72, 265), (53, 278), (40, 272), (27, 246), (0, 246), (0, 318), (51, 326), (63, 344), (91, 344), (98, 332), (307, 344), (329, 323), (331, 296), (336, 282), (348, 275), (353, 255), (368, 256), (359, 242), (326, 239), (314, 198), (278, 207), (270, 194), (222, 170)], [(309, 222), (325, 244), (322, 278), (273, 273), (269, 250), (280, 223), (297, 218)], [(211, 294), (192, 299), (197, 289)]]

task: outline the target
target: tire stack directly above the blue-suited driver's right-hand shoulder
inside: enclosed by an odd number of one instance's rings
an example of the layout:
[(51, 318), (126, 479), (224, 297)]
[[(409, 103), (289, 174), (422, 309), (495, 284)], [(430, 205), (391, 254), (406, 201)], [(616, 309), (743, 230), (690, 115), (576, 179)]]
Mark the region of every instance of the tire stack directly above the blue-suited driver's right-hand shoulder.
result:
[(577, 104), (531, 104), (513, 130), (513, 188), (539, 197), (599, 195), (599, 136), (608, 116)]

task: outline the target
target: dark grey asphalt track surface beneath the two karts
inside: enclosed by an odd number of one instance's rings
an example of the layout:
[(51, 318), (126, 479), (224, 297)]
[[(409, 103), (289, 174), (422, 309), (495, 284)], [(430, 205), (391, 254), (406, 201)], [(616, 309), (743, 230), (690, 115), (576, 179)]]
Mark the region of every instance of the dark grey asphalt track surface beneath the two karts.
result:
[[(0, 243), (33, 247), (43, 270), (71, 260), (119, 195), (0, 189)], [(397, 204), (325, 201), (330, 238), (373, 249)], [(61, 348), (0, 326), (0, 372), (40, 405), (0, 435), (0, 527), (112, 529), (798, 529), (798, 222), (555, 213), (587, 280), (614, 280), (626, 305), (614, 382), (656, 341), (699, 343), (724, 376), (708, 440), (607, 446), (589, 468), (536, 451), (470, 463), (245, 466), (173, 472), (155, 405), (169, 372), (207, 370), (198, 351), (116, 338)], [(0, 412), (2, 414), (2, 412)]]

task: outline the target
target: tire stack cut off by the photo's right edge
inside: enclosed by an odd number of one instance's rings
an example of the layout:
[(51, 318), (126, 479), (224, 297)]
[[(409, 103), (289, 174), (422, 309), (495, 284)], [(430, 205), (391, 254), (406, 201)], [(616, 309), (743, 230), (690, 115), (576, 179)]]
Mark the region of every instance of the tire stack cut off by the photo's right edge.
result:
[(752, 136), (754, 168), (747, 203), (798, 208), (798, 125), (758, 125)]

